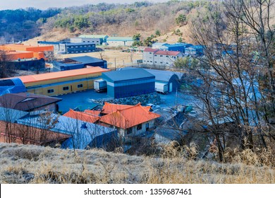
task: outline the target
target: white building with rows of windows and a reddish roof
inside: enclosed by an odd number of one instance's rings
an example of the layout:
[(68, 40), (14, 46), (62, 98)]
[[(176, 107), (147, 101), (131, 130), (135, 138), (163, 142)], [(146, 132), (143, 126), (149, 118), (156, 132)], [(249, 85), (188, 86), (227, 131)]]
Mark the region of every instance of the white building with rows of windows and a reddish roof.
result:
[(173, 66), (176, 59), (183, 57), (181, 52), (157, 50), (149, 47), (145, 48), (142, 55), (143, 64), (161, 66)]

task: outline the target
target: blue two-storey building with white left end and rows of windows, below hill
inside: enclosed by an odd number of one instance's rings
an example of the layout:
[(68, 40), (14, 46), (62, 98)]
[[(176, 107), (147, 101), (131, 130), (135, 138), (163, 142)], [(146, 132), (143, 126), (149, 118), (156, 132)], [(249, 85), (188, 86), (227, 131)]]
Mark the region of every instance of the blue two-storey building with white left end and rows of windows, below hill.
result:
[(92, 43), (60, 43), (59, 44), (59, 52), (63, 54), (78, 54), (78, 53), (87, 53), (87, 52), (94, 52), (95, 51), (95, 44)]

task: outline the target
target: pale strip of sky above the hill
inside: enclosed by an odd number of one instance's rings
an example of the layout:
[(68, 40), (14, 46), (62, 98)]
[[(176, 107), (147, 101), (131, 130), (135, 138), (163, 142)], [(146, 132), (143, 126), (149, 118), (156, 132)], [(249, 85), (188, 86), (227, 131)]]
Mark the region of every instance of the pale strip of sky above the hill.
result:
[[(69, 6), (82, 6), (85, 4), (99, 4), (114, 3), (114, 4), (125, 4), (133, 3), (138, 0), (0, 0), (0, 10), (6, 9), (17, 9), (17, 8), (27, 8), (34, 7), (39, 9), (47, 8), (64, 8)], [(144, 0), (143, 0), (144, 1)], [(148, 0), (150, 2), (165, 2), (169, 0)]]

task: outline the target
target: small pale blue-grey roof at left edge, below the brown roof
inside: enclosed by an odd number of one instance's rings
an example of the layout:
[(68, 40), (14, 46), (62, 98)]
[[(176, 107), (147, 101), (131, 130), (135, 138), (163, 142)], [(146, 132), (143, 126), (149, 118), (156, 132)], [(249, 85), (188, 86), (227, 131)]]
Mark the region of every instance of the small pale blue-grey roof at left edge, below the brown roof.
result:
[(0, 120), (6, 122), (16, 122), (16, 120), (20, 119), (27, 115), (28, 112), (20, 111), (20, 110), (12, 110), (5, 107), (0, 107)]

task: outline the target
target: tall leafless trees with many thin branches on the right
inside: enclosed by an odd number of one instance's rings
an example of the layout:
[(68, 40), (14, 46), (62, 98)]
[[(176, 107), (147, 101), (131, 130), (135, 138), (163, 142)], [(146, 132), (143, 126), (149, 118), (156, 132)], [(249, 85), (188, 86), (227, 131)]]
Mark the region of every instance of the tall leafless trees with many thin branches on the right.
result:
[[(264, 116), (267, 115), (267, 110), (264, 109), (267, 109), (270, 103), (274, 105), (273, 76), (269, 72), (271, 69), (269, 62), (272, 60), (268, 49), (259, 48), (257, 44), (259, 41), (265, 46), (263, 42), (267, 38), (266, 33), (271, 29), (268, 28), (269, 25), (260, 25), (264, 30), (261, 28), (258, 28), (258, 31), (255, 28), (253, 30), (250, 23), (267, 24), (270, 13), (265, 13), (265, 17), (262, 16), (264, 13), (260, 11), (262, 9), (260, 1), (253, 1), (253, 4), (249, 2), (243, 2), (244, 5), (250, 6), (248, 9), (244, 8), (240, 1), (218, 3), (211, 11), (200, 11), (197, 18), (190, 23), (190, 36), (195, 42), (204, 46), (204, 57), (198, 59), (211, 69), (211, 71), (196, 69), (203, 83), (200, 86), (193, 86), (193, 93), (203, 102), (202, 117), (209, 121), (208, 129), (215, 136), (221, 161), (224, 155), (222, 145), (224, 131), (220, 127), (221, 120), (236, 123), (238, 144), (242, 148), (253, 148), (255, 131), (259, 133), (262, 145), (267, 146), (261, 126), (268, 122), (268, 119), (264, 119), (267, 117)], [(269, 6), (271, 5), (266, 5), (264, 12), (270, 11)], [(265, 33), (261, 38), (257, 32), (262, 33), (262, 31)], [(273, 37), (273, 33), (270, 33), (270, 37)], [(271, 40), (268, 45), (271, 45)], [(266, 71), (269, 75), (267, 84), (271, 94), (266, 93), (262, 86)]]

